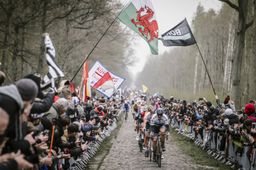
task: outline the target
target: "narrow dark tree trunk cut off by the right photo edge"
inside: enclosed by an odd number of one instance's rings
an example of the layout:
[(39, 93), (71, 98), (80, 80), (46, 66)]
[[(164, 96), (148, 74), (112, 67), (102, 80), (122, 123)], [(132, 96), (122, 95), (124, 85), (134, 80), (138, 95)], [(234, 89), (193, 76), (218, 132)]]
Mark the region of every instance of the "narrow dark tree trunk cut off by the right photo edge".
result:
[(255, 21), (252, 26), (251, 35), (251, 58), (250, 58), (250, 69), (249, 69), (249, 99), (252, 100), (256, 96), (256, 1), (253, 1), (254, 14), (253, 18)]

